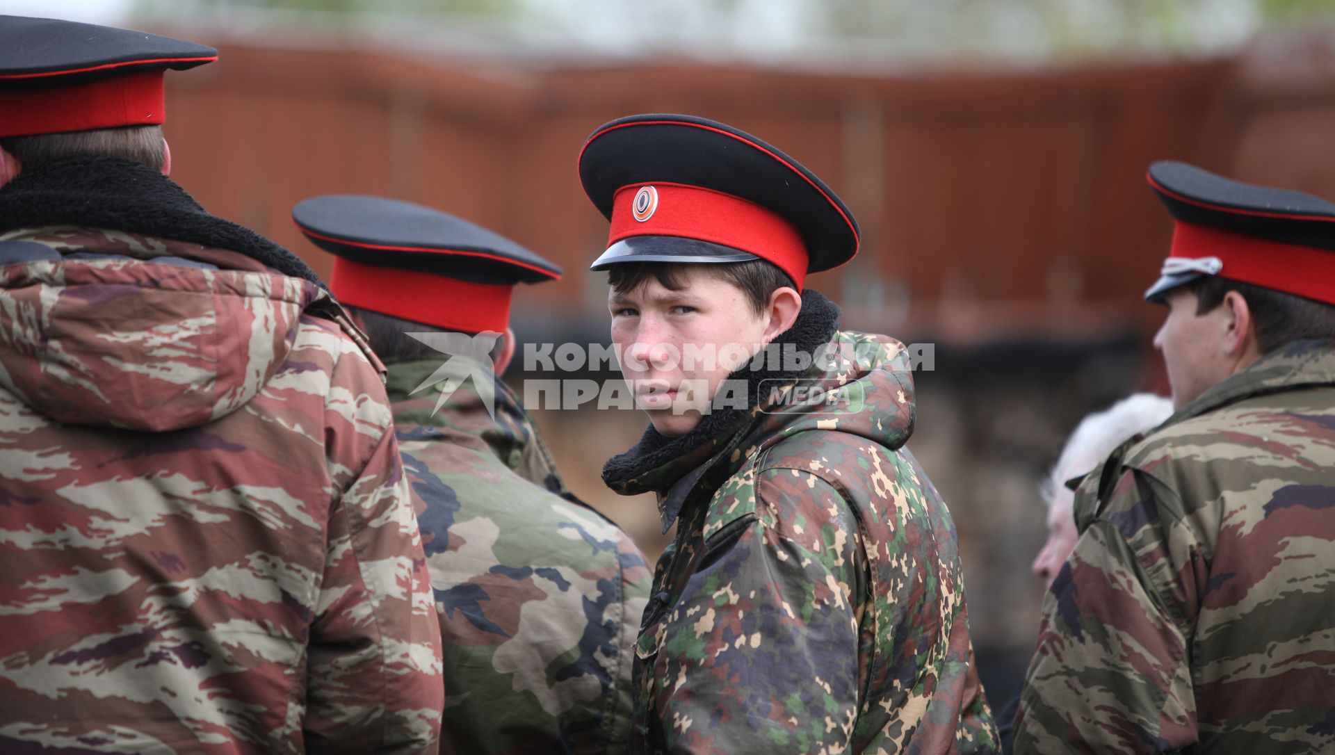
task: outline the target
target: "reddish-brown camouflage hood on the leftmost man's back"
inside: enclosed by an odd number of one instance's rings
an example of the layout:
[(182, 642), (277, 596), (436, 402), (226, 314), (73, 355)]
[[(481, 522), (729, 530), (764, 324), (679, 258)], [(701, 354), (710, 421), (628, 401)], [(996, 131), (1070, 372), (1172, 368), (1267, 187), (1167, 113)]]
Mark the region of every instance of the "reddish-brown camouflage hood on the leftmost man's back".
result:
[(4, 233), (0, 264), (0, 386), (63, 424), (226, 416), (283, 364), (303, 311), (336, 309), (244, 255), (111, 231)]

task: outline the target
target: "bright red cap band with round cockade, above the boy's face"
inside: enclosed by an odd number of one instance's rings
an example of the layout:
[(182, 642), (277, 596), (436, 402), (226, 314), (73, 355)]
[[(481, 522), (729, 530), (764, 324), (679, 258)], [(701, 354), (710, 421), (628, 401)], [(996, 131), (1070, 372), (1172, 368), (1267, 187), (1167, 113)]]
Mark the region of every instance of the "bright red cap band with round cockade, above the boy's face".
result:
[(781, 215), (745, 199), (682, 184), (631, 184), (613, 197), (607, 245), (631, 236), (684, 236), (750, 252), (802, 289), (806, 244)]

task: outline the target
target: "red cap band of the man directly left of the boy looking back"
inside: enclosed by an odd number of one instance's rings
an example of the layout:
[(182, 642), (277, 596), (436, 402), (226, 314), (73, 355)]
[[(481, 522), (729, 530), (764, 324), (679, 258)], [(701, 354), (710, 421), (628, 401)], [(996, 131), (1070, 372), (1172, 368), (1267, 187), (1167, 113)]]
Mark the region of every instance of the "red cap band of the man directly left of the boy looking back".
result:
[(344, 304), (447, 331), (503, 333), (514, 285), (334, 259), (330, 291)]

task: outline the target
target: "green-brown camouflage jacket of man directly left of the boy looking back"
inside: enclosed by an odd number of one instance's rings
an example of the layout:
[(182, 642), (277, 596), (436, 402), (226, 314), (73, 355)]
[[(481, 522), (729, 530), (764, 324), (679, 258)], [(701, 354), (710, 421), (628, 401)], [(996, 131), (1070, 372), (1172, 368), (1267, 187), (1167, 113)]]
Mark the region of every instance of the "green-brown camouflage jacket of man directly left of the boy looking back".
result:
[(565, 492), (503, 383), (494, 419), (471, 382), (439, 411), (441, 384), (414, 394), (443, 359), (391, 361), (387, 386), (441, 611), (442, 750), (621, 752), (649, 567)]

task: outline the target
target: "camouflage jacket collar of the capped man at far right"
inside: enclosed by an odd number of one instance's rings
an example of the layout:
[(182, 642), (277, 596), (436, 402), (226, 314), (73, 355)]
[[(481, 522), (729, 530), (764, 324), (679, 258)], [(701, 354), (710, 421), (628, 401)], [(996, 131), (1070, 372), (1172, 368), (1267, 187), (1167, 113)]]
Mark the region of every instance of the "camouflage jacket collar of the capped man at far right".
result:
[[(1242, 372), (1215, 383), (1159, 427), (1176, 424), (1251, 396), (1332, 384), (1335, 384), (1335, 341), (1295, 340), (1262, 356)], [(1152, 434), (1153, 431), (1149, 431), (1145, 435)]]

